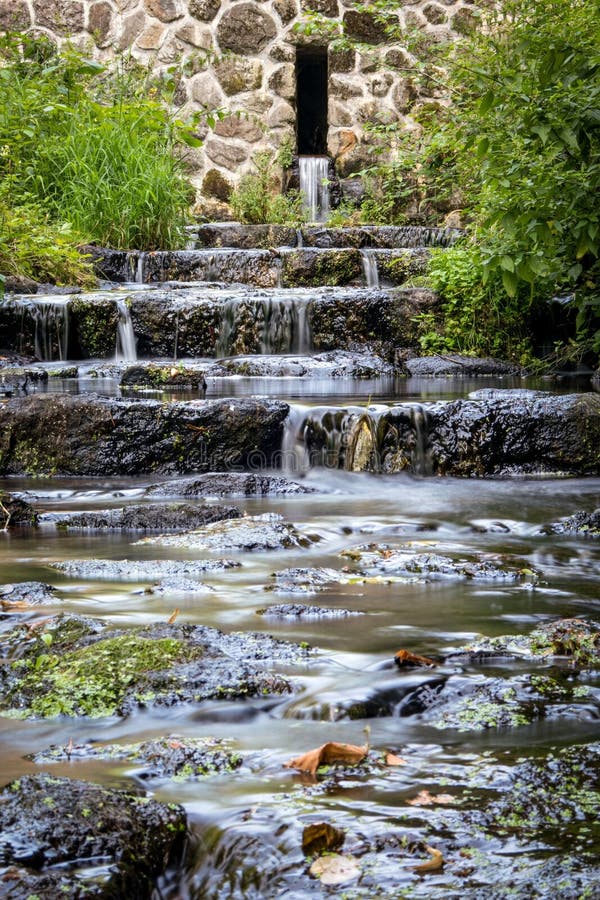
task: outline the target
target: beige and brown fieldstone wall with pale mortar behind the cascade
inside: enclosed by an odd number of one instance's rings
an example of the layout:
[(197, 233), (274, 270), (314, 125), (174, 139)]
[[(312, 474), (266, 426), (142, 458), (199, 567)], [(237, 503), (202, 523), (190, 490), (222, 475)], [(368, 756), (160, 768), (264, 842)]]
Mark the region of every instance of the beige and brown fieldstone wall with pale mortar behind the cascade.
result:
[[(323, 43), (293, 30), (308, 7), (342, 17), (347, 33), (369, 44), (329, 51), (327, 145), (347, 176), (368, 159), (365, 123), (400, 119), (414, 127), (415, 105), (436, 101), (435, 91), (424, 96), (411, 78), (410, 52), (386, 42), (354, 0), (0, 0), (0, 29), (45, 32), (101, 60), (128, 52), (157, 72), (177, 67), (184, 112), (227, 111), (214, 131), (203, 130), (204, 146), (188, 159), (194, 182), (217, 203), (257, 150), (284, 140), (295, 146), (296, 47)], [(438, 37), (462, 32), (476, 15), (476, 0), (398, 0), (401, 25)]]

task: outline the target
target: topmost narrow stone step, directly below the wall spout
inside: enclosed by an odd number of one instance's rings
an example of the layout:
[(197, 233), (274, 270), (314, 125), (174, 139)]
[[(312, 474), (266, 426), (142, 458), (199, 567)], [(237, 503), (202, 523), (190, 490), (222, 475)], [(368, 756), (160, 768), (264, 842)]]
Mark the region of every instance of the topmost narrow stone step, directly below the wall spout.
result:
[(355, 225), (345, 228), (305, 225), (240, 225), (217, 222), (190, 228), (190, 244), (196, 249), (231, 247), (239, 250), (273, 247), (352, 247), (354, 249), (402, 249), (449, 247), (462, 235), (458, 228), (425, 228), (416, 225)]

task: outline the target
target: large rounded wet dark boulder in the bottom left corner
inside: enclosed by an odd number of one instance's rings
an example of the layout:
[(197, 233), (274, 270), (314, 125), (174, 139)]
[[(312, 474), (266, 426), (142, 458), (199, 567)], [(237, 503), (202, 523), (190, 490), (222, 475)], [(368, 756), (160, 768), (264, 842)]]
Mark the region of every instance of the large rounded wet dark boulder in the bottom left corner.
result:
[(2, 891), (11, 900), (150, 900), (158, 877), (181, 855), (186, 817), (175, 804), (40, 774), (4, 788), (0, 829), (8, 867)]

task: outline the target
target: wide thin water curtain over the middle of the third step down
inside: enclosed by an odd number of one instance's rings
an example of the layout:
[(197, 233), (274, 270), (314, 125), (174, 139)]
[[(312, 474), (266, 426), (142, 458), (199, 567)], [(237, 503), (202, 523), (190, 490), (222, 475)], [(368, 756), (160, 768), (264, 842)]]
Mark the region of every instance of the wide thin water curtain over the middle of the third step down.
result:
[[(231, 297), (223, 305), (217, 357), (248, 352), (308, 353), (312, 348), (309, 295)], [(238, 345), (239, 341), (239, 345)]]

